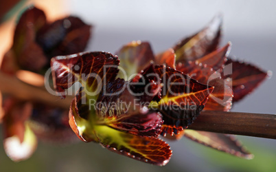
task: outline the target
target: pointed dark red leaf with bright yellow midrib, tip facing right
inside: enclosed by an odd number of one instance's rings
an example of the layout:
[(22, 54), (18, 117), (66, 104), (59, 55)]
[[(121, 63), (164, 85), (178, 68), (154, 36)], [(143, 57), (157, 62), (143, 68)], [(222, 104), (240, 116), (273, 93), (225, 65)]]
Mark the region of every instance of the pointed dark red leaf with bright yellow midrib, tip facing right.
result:
[(214, 88), (170, 67), (156, 66), (155, 71), (163, 83), (161, 100), (152, 105), (163, 115), (161, 134), (178, 134), (196, 119)]

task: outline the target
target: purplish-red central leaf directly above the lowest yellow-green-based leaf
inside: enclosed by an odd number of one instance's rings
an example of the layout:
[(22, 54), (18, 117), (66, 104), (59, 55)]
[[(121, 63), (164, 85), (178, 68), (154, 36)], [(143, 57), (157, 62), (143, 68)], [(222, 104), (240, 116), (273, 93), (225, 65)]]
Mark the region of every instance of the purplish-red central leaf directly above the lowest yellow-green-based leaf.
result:
[[(159, 136), (162, 116), (149, 111), (139, 99), (129, 92), (123, 79), (117, 78), (106, 85), (97, 99), (97, 115), (106, 125), (137, 136)], [(120, 92), (122, 91), (122, 92)], [(107, 94), (113, 94), (108, 96)]]

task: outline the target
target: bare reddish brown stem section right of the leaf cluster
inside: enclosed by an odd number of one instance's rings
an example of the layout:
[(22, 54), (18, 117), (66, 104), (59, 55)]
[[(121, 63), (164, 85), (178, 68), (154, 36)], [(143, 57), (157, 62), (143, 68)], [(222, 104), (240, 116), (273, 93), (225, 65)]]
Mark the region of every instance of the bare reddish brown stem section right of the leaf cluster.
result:
[(189, 129), (276, 139), (276, 115), (203, 111)]

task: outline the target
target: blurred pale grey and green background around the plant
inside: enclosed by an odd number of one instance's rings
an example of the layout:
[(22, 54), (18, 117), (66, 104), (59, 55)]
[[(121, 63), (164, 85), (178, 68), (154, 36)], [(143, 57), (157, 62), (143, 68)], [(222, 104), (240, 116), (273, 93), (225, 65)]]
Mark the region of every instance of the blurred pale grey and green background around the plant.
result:
[[(149, 41), (155, 53), (202, 29), (223, 15), (222, 45), (231, 55), (276, 72), (276, 1), (24, 1), (56, 19), (73, 14), (94, 25), (89, 51), (116, 50), (133, 40)], [(0, 55), (8, 50), (14, 18), (0, 27)], [(3, 39), (6, 38), (6, 39)], [(264, 81), (232, 111), (275, 114), (276, 78)], [(15, 163), (0, 145), (0, 171), (276, 171), (276, 140), (238, 136), (255, 158), (243, 160), (185, 138), (169, 142), (173, 155), (163, 167), (117, 155), (94, 143), (51, 145), (41, 142), (30, 160)], [(2, 144), (2, 143), (1, 143)]]

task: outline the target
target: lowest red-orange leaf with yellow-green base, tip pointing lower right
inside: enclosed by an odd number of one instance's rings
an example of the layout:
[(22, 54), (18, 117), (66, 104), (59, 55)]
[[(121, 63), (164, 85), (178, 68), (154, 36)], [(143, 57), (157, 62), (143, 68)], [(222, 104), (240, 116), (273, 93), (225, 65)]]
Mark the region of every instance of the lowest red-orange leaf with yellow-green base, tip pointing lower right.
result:
[(158, 138), (135, 136), (106, 125), (89, 125), (88, 120), (77, 114), (70, 120), (72, 129), (77, 131), (81, 140), (100, 142), (106, 149), (129, 158), (162, 166), (172, 155), (169, 145)]

